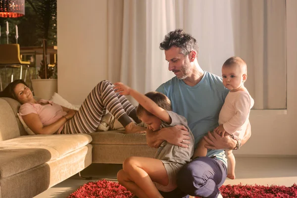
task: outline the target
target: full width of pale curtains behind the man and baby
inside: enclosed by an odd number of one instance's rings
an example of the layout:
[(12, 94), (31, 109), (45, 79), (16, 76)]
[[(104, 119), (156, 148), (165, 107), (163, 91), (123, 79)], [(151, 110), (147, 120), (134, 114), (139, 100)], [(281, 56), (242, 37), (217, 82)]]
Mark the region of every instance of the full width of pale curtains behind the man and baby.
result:
[[(146, 93), (174, 75), (159, 44), (176, 28), (198, 41), (202, 69), (241, 56), (254, 108), (286, 108), (285, 0), (108, 0), (108, 80)], [(134, 101), (133, 101), (134, 102)]]

